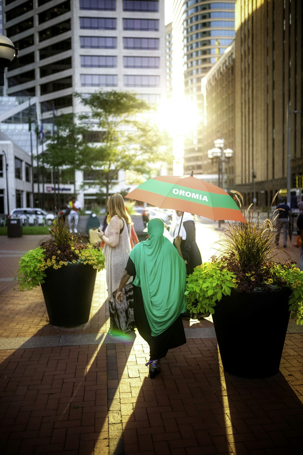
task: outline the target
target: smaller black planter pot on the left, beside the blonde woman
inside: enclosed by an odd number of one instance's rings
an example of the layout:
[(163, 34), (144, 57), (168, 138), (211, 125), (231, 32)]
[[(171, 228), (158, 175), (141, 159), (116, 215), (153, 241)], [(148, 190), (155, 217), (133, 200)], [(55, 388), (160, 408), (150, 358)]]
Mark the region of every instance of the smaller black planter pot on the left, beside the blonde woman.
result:
[(50, 324), (70, 327), (89, 320), (96, 272), (86, 264), (69, 264), (45, 271), (41, 288)]

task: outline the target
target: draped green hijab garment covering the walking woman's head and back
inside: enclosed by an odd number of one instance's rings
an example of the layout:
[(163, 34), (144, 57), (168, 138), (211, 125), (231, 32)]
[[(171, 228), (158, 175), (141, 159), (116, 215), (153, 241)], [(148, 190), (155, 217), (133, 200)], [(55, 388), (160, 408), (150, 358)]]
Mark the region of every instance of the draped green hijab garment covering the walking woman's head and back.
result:
[(133, 285), (141, 288), (153, 337), (168, 329), (185, 309), (185, 263), (163, 233), (163, 221), (150, 220), (149, 238), (129, 254), (136, 271)]

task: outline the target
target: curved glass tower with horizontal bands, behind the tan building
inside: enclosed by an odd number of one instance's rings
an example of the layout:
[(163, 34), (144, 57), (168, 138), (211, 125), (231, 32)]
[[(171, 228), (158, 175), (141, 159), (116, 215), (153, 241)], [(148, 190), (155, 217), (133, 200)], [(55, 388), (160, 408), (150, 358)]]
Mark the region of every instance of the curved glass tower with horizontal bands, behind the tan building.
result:
[(203, 162), (207, 162), (208, 158), (201, 135), (201, 79), (235, 37), (235, 2), (174, 0), (173, 67), (174, 74), (178, 74), (176, 70), (179, 68), (179, 78), (173, 85), (176, 95), (183, 90), (185, 99), (194, 103), (199, 117), (184, 144), (184, 174), (189, 174), (192, 170), (196, 175), (205, 174)]

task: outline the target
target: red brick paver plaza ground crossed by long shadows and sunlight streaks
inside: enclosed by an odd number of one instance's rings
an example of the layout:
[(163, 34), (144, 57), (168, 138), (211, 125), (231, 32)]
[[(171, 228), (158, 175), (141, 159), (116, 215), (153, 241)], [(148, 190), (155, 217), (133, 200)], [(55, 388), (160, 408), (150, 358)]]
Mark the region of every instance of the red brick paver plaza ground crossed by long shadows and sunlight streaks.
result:
[(151, 380), (144, 340), (106, 336), (104, 272), (89, 323), (73, 329), (47, 323), (40, 289), (12, 289), (18, 254), (37, 240), (0, 238), (0, 342), (20, 340), (0, 350), (1, 454), (303, 453), (302, 333), (287, 334), (278, 374), (241, 379), (224, 374), (216, 339), (204, 336), (211, 321), (184, 320), (201, 335), (188, 332)]

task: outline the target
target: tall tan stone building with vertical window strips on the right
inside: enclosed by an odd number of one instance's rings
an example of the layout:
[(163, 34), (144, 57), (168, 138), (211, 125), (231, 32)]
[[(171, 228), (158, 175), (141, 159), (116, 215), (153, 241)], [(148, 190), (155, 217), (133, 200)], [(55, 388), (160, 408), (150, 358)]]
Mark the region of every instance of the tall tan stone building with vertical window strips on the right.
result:
[(288, 103), (290, 186), (303, 174), (302, 14), (299, 1), (237, 0), (233, 59), (227, 50), (204, 81), (204, 162), (220, 129), (234, 152), (227, 187), (247, 204), (255, 192), (258, 205), (268, 206), (287, 187)]

